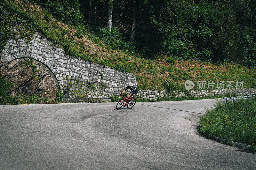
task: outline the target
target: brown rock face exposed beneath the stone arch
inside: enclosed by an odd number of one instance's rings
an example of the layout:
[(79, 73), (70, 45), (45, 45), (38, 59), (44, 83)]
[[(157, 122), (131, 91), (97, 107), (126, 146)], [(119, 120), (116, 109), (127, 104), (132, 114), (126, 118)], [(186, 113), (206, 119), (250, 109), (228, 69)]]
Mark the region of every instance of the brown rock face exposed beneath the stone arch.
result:
[(36, 94), (51, 101), (55, 99), (58, 90), (58, 82), (53, 73), (36, 60), (21, 58), (6, 65), (0, 61), (0, 78), (14, 84), (8, 92), (14, 96), (18, 93), (29, 96)]

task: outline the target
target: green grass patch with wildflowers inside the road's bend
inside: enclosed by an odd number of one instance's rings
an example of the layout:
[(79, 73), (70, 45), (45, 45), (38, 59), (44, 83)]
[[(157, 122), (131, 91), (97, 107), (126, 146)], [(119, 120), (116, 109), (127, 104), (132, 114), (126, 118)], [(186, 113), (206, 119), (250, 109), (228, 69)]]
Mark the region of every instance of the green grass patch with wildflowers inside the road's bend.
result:
[(201, 133), (256, 146), (256, 98), (227, 104), (217, 101), (200, 119)]

